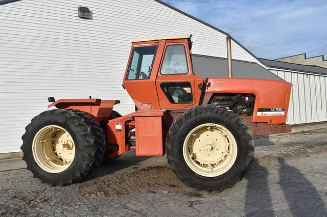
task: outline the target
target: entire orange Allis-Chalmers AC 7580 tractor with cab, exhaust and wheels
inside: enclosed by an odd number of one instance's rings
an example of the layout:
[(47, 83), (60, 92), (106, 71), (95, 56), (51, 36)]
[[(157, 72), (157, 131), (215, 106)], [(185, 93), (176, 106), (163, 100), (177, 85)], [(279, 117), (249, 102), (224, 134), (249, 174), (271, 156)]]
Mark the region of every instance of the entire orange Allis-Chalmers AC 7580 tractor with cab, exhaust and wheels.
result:
[(34, 117), (22, 135), (34, 177), (71, 184), (104, 156), (135, 149), (136, 156), (166, 153), (176, 176), (196, 189), (223, 191), (241, 180), (253, 160), (252, 135), (291, 130), (285, 124), (291, 84), (232, 77), (230, 49), (228, 77), (199, 76), (191, 45), (185, 35), (133, 41), (123, 80), (135, 103), (131, 114), (112, 110), (119, 100), (50, 97), (57, 109)]

